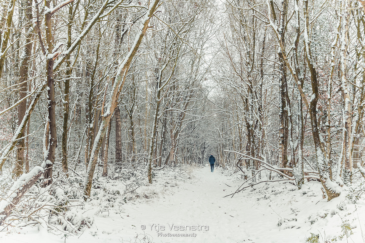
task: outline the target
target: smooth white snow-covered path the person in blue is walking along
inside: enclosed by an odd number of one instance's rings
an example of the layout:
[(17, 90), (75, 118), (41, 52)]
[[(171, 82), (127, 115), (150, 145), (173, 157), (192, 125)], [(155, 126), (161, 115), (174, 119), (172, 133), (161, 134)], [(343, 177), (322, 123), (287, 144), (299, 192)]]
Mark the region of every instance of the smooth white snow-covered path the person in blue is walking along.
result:
[[(253, 201), (242, 194), (224, 197), (242, 182), (233, 184), (219, 169), (211, 173), (208, 166), (197, 169), (194, 175), (193, 182), (180, 184), (173, 195), (166, 195), (148, 205), (126, 205), (130, 217), (118, 220), (112, 227), (126, 226), (120, 231), (124, 235), (131, 231), (142, 233), (141, 225), (146, 225), (145, 233), (152, 236), (154, 242), (299, 242), (298, 237), (303, 237), (293, 230), (279, 231), (277, 222), (280, 216), (264, 201)], [(154, 226), (150, 227), (153, 224), (165, 226), (164, 231), (159, 231), (164, 234), (195, 233), (196, 236), (159, 236)], [(172, 224), (203, 225), (209, 226), (209, 230), (170, 230)]]

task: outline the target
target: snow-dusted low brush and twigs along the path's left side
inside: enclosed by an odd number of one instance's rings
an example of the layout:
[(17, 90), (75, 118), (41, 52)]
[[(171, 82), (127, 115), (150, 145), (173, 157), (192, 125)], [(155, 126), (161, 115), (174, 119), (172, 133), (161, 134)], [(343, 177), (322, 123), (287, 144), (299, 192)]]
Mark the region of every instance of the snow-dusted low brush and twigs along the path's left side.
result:
[[(194, 166), (195, 167), (195, 166)], [(179, 165), (167, 167), (153, 173), (154, 184), (149, 184), (147, 172), (143, 168), (115, 169), (111, 176), (102, 177), (102, 167), (95, 173), (91, 196), (84, 200), (83, 185), (85, 172), (71, 172), (56, 176), (53, 184), (41, 187), (41, 180), (27, 191), (0, 231), (18, 232), (24, 227), (42, 227), (53, 234), (80, 235), (85, 230), (93, 234), (93, 216), (107, 217), (123, 212), (123, 205), (136, 201), (153, 200), (170, 188), (177, 187), (180, 181), (192, 179), (193, 166)], [(25, 174), (24, 174), (25, 175)], [(0, 197), (6, 198), (14, 192), (15, 181), (3, 175), (0, 181)], [(12, 190), (11, 190), (12, 189)]]

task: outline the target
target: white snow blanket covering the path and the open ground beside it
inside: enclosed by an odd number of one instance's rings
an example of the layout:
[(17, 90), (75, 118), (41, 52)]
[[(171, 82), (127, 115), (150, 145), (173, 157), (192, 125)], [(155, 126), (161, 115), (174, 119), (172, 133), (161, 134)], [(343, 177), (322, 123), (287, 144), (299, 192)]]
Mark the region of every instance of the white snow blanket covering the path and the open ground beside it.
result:
[(301, 243), (310, 237), (321, 243), (365, 242), (363, 197), (357, 204), (345, 195), (327, 202), (316, 181), (301, 190), (289, 183), (261, 183), (224, 197), (242, 183), (219, 168), (214, 173), (208, 166), (165, 168), (127, 203), (109, 208), (99, 199), (86, 203), (83, 216), (95, 221), (78, 235), (54, 235), (36, 224), (0, 232), (0, 242)]

